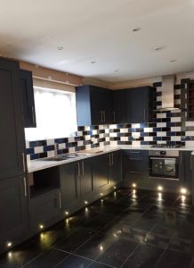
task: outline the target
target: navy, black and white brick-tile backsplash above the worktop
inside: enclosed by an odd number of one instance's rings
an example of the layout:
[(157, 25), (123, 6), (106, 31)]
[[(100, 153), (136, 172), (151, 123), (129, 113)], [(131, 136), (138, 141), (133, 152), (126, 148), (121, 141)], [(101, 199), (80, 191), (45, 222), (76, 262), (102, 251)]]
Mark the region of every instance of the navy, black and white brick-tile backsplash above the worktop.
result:
[[(174, 86), (174, 105), (183, 108), (180, 111), (153, 113), (148, 123), (115, 124), (78, 127), (75, 137), (54, 138), (26, 142), (28, 160), (54, 155), (54, 143), (58, 144), (58, 154), (101, 147), (106, 145), (154, 145), (157, 143), (194, 146), (194, 121), (186, 121), (187, 108), (186, 82)], [(162, 83), (153, 84), (154, 109), (161, 106)]]

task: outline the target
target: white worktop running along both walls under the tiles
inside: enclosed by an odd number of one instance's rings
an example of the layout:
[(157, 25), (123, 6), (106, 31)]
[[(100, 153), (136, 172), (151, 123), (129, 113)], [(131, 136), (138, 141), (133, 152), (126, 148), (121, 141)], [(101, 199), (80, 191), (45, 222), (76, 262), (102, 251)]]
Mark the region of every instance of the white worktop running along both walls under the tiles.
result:
[(40, 170), (44, 170), (46, 168), (50, 168), (53, 166), (58, 166), (64, 163), (76, 162), (88, 157), (93, 157), (97, 155), (103, 155), (107, 153), (111, 153), (117, 150), (179, 150), (179, 151), (194, 151), (194, 147), (181, 147), (181, 148), (156, 148), (151, 146), (107, 146), (107, 147), (96, 147), (90, 150), (79, 151), (78, 153), (84, 153), (86, 155), (82, 155), (76, 158), (69, 158), (68, 160), (62, 161), (45, 161), (45, 160), (32, 160), (28, 162), (28, 173), (36, 172)]

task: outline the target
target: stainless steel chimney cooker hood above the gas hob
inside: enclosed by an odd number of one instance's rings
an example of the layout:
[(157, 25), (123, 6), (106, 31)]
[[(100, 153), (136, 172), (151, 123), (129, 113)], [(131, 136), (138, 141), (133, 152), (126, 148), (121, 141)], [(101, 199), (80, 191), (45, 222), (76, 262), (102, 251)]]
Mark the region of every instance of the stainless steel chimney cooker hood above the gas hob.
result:
[(157, 109), (158, 112), (180, 110), (174, 107), (174, 75), (162, 77), (162, 106)]

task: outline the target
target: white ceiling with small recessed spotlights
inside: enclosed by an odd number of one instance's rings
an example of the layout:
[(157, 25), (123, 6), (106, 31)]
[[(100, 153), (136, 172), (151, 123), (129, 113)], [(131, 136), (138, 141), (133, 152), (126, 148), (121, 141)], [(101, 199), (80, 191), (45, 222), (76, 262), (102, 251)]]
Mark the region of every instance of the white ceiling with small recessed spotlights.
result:
[(0, 54), (107, 81), (194, 71), (194, 0), (0, 4)]

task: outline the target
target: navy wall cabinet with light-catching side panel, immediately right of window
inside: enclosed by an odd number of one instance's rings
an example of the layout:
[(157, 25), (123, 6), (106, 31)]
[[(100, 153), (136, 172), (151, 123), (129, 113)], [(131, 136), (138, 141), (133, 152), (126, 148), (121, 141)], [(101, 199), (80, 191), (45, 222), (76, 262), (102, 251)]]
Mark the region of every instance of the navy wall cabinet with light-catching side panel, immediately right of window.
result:
[(94, 86), (76, 88), (77, 125), (109, 124), (114, 120), (113, 91)]

